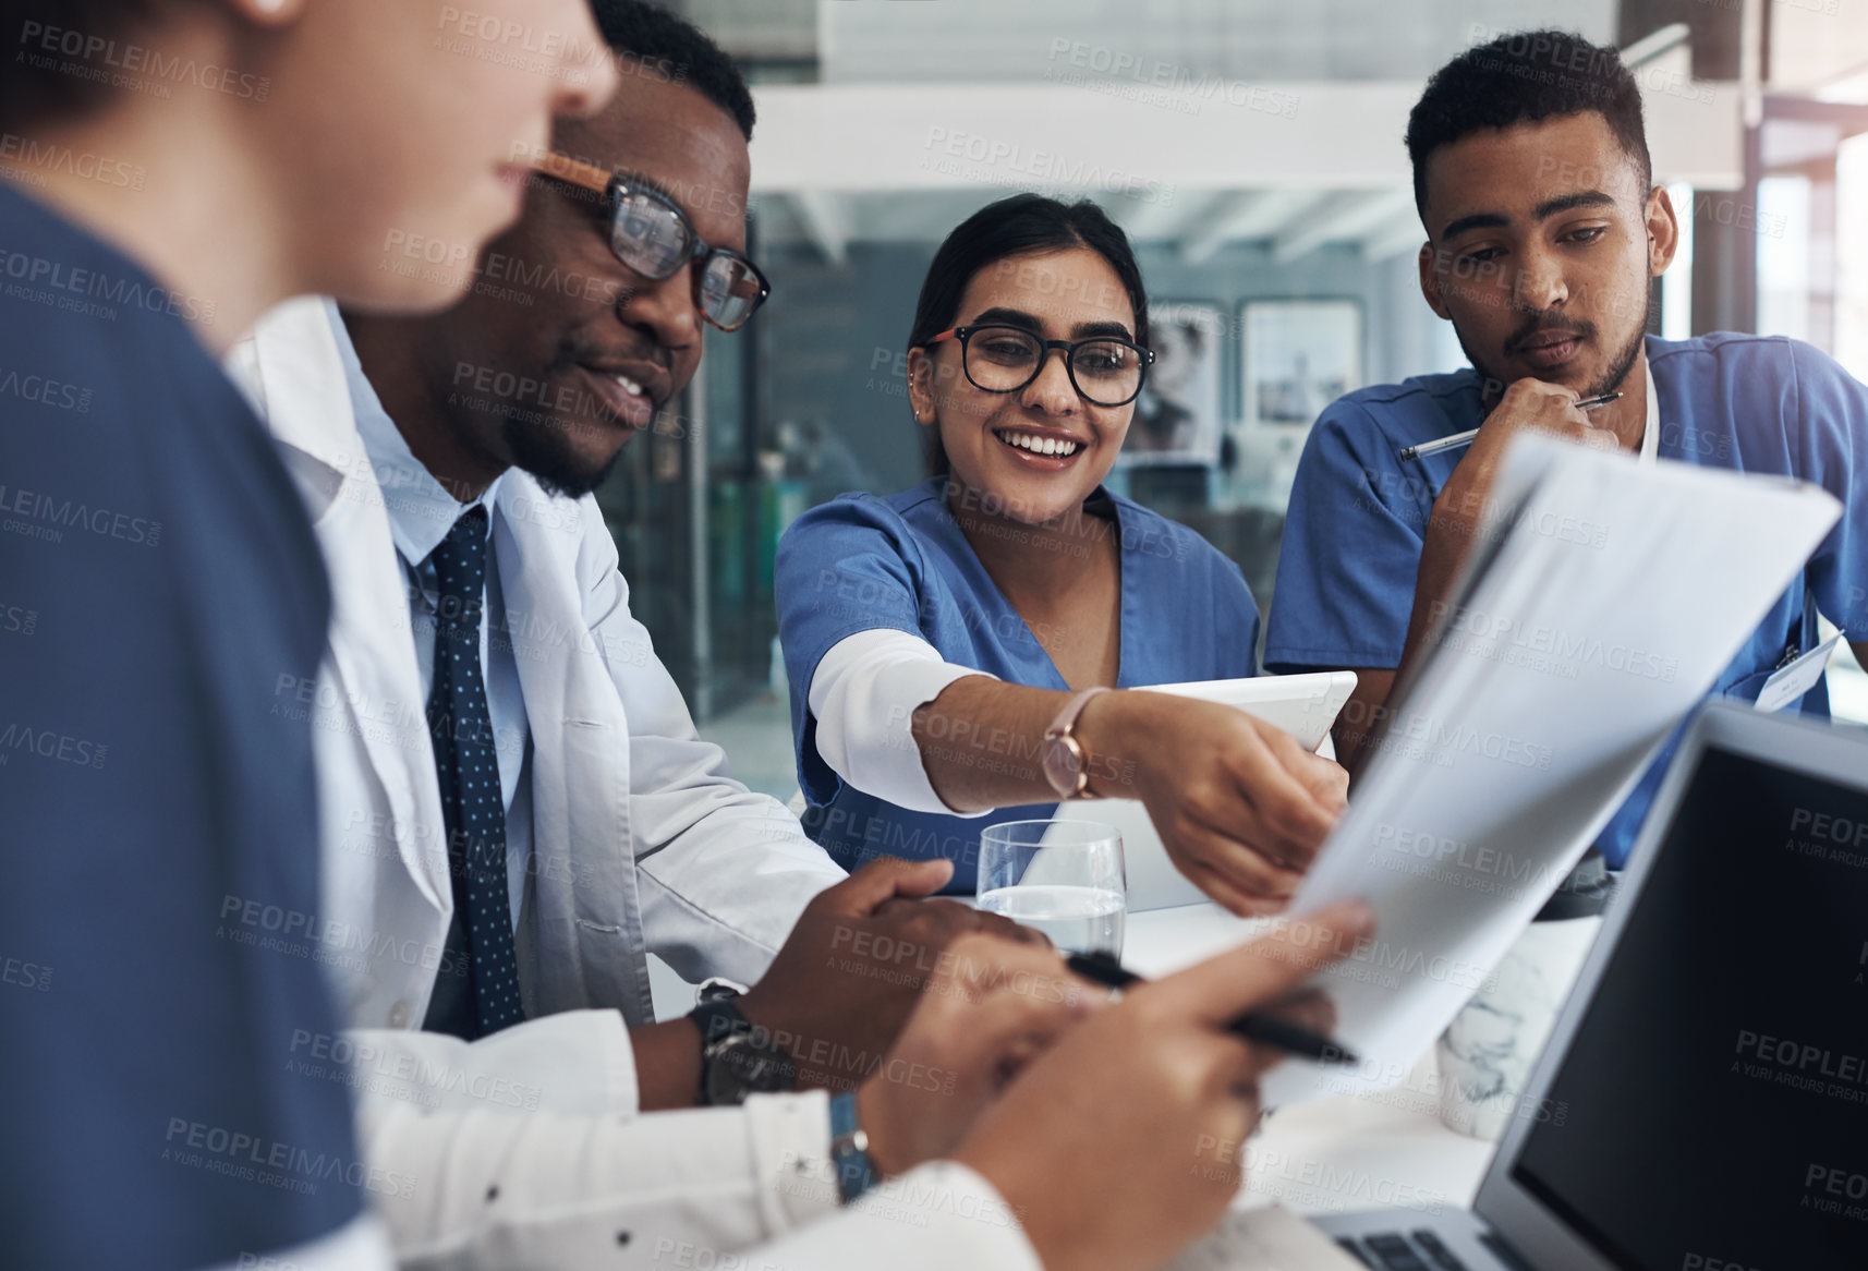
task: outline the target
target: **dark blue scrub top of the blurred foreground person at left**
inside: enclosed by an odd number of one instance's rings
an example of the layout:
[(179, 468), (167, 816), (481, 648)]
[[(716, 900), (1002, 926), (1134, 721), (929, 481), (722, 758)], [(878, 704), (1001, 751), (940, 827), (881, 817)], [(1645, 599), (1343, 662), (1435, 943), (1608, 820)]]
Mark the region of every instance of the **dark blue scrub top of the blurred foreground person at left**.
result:
[(194, 307), (0, 181), (9, 1267), (234, 1265), (368, 1200), (342, 1065), (304, 1062), (340, 1026), (291, 708), (331, 596)]

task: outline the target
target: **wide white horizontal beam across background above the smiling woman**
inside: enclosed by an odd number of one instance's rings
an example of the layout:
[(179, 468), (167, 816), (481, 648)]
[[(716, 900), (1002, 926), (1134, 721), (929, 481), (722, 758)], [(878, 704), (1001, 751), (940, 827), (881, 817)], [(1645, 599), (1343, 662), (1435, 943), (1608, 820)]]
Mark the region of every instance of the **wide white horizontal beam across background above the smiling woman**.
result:
[[(1646, 73), (1651, 65), (1642, 67)], [(1642, 79), (1655, 179), (1745, 181), (1737, 84)], [(1373, 189), (1408, 179), (1420, 82), (1272, 84), (1296, 118), (1158, 107), (1055, 84), (760, 84), (753, 191)], [(1068, 136), (1055, 127), (1072, 121)], [(1179, 202), (1179, 198), (1175, 200)]]

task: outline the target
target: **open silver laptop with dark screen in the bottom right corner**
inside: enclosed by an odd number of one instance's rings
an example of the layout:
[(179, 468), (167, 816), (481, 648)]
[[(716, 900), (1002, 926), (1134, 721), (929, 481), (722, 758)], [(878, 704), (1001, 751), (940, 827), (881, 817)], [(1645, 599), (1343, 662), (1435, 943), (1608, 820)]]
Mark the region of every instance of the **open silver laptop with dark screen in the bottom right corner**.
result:
[(1472, 1211), (1386, 1271), (1868, 1267), (1868, 733), (1702, 708)]

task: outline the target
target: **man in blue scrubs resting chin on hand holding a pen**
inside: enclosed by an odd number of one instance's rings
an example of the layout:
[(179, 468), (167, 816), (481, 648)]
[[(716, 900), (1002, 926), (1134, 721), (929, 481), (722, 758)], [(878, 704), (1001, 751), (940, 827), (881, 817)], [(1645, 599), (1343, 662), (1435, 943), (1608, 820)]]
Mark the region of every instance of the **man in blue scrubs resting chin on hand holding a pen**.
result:
[[(1291, 493), (1265, 647), (1274, 671), (1358, 671), (1337, 721), (1347, 766), (1427, 645), (1521, 428), (1834, 493), (1842, 521), (1713, 692), (1756, 699), (1773, 669), (1818, 643), (1818, 615), (1868, 662), (1868, 389), (1797, 340), (1644, 335), (1649, 280), (1672, 262), (1679, 224), (1653, 185), (1640, 90), (1614, 49), (1562, 32), (1470, 49), (1427, 84), (1407, 142), (1427, 228), (1422, 292), (1472, 368), (1324, 409)], [(1578, 409), (1605, 393), (1621, 396)], [(1481, 422), (1470, 449), (1399, 458)], [(1803, 708), (1829, 714), (1823, 684)], [(1612, 867), (1670, 753), (1597, 839)]]

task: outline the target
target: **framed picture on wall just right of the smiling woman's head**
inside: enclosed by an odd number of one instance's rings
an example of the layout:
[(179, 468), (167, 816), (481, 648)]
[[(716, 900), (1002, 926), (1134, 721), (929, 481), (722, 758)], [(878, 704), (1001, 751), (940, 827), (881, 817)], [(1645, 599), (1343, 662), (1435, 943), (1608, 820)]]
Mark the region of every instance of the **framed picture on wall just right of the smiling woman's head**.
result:
[(1220, 361), (1225, 310), (1212, 301), (1149, 305), (1154, 364), (1136, 398), (1121, 462), (1130, 467), (1220, 462)]

